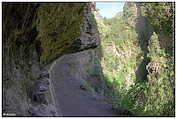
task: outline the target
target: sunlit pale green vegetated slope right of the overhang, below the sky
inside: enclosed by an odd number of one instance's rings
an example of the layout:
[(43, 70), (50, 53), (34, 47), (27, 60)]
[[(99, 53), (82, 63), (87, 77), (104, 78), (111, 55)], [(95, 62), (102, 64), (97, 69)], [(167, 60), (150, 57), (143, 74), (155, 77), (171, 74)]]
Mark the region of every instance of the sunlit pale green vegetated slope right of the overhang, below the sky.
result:
[[(124, 20), (112, 18), (98, 22), (102, 33), (103, 74), (106, 79), (105, 96), (114, 108), (129, 109), (126, 93), (135, 85), (136, 70), (143, 60), (138, 34)], [(112, 30), (113, 29), (113, 30)]]

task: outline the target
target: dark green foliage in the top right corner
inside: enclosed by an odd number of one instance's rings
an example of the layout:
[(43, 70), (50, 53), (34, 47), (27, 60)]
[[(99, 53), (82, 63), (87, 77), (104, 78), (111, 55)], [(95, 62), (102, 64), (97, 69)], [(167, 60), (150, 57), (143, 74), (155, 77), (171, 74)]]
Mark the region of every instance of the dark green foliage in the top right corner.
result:
[(173, 33), (174, 3), (143, 3), (144, 15), (153, 25), (155, 32), (170, 36)]

